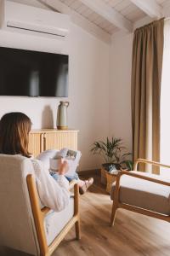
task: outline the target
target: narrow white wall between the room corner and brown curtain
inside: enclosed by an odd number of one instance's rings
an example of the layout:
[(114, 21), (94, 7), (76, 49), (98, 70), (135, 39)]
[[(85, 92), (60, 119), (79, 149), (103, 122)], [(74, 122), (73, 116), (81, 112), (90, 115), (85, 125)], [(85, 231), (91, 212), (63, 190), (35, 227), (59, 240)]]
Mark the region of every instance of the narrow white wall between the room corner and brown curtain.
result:
[(111, 44), (110, 136), (132, 152), (131, 66), (133, 34), (117, 33)]

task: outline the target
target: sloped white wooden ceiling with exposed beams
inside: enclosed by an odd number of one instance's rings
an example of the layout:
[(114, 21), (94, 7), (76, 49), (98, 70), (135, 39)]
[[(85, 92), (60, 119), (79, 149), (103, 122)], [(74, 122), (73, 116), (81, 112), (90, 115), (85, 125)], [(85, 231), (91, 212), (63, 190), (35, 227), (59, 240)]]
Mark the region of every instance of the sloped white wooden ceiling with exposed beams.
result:
[[(106, 42), (119, 31), (133, 32), (139, 20), (170, 14), (170, 0), (12, 0), (35, 2), (71, 16), (71, 20)], [(169, 12), (167, 12), (169, 10)], [(165, 15), (166, 14), (166, 15)]]

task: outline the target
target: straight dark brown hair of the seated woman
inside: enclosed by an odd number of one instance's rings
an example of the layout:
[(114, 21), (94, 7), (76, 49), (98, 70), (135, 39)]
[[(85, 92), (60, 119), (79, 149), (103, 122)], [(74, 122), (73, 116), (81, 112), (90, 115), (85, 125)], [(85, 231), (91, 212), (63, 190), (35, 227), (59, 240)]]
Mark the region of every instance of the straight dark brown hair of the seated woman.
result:
[(20, 112), (6, 113), (0, 119), (0, 154), (22, 154), (28, 152), (31, 119)]

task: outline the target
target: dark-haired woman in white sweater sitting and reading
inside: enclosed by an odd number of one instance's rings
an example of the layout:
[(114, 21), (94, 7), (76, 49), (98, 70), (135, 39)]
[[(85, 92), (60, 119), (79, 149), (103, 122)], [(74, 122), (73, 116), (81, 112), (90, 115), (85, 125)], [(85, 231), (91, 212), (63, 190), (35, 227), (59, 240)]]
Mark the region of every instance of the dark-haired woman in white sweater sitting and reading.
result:
[[(31, 119), (25, 113), (6, 113), (0, 119), (0, 154), (21, 154), (31, 158), (28, 152), (29, 132), (31, 131)], [(66, 161), (61, 162), (57, 180), (45, 170), (40, 160), (31, 159), (40, 200), (44, 206), (50, 207), (56, 212), (62, 211), (69, 204), (69, 182), (65, 178), (68, 170)], [(82, 192), (93, 183), (92, 180), (81, 181), (78, 184)]]

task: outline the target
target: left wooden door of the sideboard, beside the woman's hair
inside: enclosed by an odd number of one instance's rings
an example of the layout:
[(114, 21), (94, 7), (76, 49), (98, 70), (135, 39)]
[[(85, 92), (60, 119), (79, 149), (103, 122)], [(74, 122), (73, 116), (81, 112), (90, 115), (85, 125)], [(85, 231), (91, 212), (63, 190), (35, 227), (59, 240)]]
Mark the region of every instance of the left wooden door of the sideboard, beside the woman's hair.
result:
[(33, 157), (37, 157), (37, 155), (42, 152), (43, 150), (42, 148), (43, 148), (43, 134), (30, 133), (28, 150), (33, 155)]

